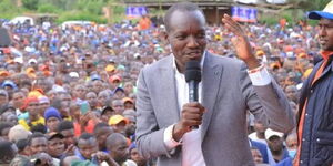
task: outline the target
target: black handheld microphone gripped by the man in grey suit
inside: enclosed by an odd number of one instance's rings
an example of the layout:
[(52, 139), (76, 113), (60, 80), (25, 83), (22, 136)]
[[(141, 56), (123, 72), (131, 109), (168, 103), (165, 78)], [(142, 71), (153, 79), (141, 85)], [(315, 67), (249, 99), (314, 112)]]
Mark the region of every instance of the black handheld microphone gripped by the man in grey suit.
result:
[[(199, 101), (199, 92), (198, 85), (201, 82), (201, 66), (200, 62), (195, 60), (191, 60), (185, 63), (185, 80), (189, 84), (189, 101), (198, 102)], [(191, 126), (192, 129), (198, 129), (199, 126)]]

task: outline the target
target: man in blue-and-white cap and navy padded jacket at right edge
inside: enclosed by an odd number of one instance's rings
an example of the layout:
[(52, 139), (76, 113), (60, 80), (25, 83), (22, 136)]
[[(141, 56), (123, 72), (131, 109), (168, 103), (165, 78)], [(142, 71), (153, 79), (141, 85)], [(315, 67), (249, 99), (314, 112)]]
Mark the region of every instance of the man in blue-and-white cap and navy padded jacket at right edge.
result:
[(300, 144), (295, 166), (330, 166), (333, 163), (333, 152), (326, 148), (332, 144), (325, 144), (333, 139), (332, 15), (333, 1), (323, 11), (311, 11), (307, 14), (309, 19), (319, 20), (322, 61), (315, 64), (301, 91), (297, 125)]

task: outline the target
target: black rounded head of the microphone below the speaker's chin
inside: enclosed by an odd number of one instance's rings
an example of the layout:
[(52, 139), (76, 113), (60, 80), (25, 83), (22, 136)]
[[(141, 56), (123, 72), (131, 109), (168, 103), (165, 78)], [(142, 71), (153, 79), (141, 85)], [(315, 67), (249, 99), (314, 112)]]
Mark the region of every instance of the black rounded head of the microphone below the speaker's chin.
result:
[(185, 80), (186, 82), (201, 81), (201, 66), (199, 61), (191, 60), (185, 63)]

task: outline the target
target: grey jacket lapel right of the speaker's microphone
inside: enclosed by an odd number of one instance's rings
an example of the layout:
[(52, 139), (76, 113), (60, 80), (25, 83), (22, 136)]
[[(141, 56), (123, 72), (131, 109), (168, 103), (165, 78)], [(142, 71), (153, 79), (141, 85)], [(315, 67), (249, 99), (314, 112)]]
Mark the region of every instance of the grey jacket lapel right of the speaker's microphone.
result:
[(201, 141), (203, 141), (211, 122), (222, 75), (222, 65), (219, 65), (213, 59), (214, 56), (208, 52), (203, 62), (202, 105), (206, 108), (206, 112), (203, 114), (202, 120)]

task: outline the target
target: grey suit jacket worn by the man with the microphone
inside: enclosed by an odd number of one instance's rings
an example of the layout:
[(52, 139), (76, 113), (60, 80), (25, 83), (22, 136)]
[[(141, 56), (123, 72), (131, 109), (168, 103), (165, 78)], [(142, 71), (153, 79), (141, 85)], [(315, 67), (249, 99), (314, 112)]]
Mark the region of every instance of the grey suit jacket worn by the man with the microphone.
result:
[[(159, 166), (181, 165), (181, 146), (167, 151), (164, 129), (180, 120), (172, 56), (147, 68), (138, 82), (137, 144)], [(188, 94), (180, 94), (188, 95)], [(272, 81), (253, 86), (243, 62), (206, 53), (202, 69), (202, 153), (208, 166), (254, 165), (246, 133), (246, 111), (272, 129), (290, 132), (295, 124), (289, 102)]]

